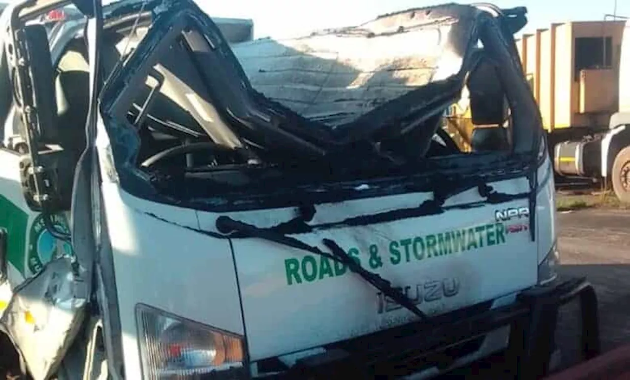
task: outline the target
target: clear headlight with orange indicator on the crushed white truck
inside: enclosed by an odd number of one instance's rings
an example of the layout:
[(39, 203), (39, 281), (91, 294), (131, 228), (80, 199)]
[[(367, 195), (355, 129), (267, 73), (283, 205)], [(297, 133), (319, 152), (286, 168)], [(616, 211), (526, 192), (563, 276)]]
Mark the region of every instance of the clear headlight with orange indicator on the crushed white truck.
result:
[(241, 337), (140, 304), (136, 318), (144, 379), (244, 377)]

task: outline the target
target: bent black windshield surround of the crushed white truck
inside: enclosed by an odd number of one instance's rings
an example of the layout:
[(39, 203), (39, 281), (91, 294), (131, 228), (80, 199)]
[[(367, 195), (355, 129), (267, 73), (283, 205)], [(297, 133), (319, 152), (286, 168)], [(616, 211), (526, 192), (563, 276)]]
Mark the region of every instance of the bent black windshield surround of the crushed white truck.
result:
[[(131, 89), (145, 80), (157, 60), (159, 50), (168, 48), (170, 41), (175, 40), (182, 30), (194, 29), (204, 36), (210, 49), (229, 54), (231, 62), (238, 64), (218, 29), (195, 4), (182, 1), (176, 11), (159, 9), (155, 16), (145, 37), (123, 64), (113, 71), (101, 93), (101, 116), (112, 145), (108, 164), (117, 173), (123, 189), (140, 198), (217, 212), (252, 210), (295, 205), (305, 197), (314, 202), (327, 202), (411, 191), (435, 192), (444, 187), (444, 182), (454, 179), (468, 178), (474, 183), (513, 179), (531, 174), (544, 159), (544, 156), (539, 155), (540, 144), (544, 143), (541, 139), (540, 114), (522, 74), (520, 62), (514, 59), (517, 52), (512, 32), (500, 17), (479, 12), (474, 29), (483, 42), (483, 49), (497, 63), (498, 75), (505, 87), (513, 128), (512, 151), (423, 157), (401, 163), (379, 154), (375, 146), (370, 145), (371, 141), (365, 145), (362, 141), (355, 144), (355, 151), (350, 154), (348, 150), (340, 150), (343, 154), (333, 150), (331, 154), (323, 153), (299, 136), (276, 131), (275, 135), (269, 136), (270, 139), (277, 137), (284, 139), (285, 144), (295, 144), (288, 150), (280, 150), (280, 157), (283, 154), (287, 157), (287, 151), (299, 150), (306, 151), (305, 156), (282, 164), (256, 162), (254, 157), (255, 163), (250, 161), (195, 170), (147, 172), (136, 163), (139, 138), (137, 131), (125, 120), (125, 115), (133, 103), (134, 92)], [(240, 67), (232, 69), (243, 74)], [(236, 85), (241, 86), (243, 83)], [(461, 90), (461, 85), (451, 88)], [(439, 104), (425, 108), (421, 117), (425, 117), (425, 120), (440, 117), (456, 97), (453, 93), (447, 93), (443, 99)], [(226, 105), (224, 102), (219, 104)], [(245, 100), (244, 107), (248, 105)], [(225, 107), (222, 111), (229, 114), (232, 110)], [(268, 114), (251, 107), (248, 111), (250, 115), (258, 117), (258, 121), (267, 124), (273, 124), (276, 115), (273, 107), (266, 109)], [(251, 120), (238, 118), (232, 121), (240, 122), (241, 128), (251, 128), (255, 124)], [(432, 137), (433, 132), (428, 134), (427, 140), (433, 140)], [(249, 141), (238, 138), (238, 143), (246, 145)], [(357, 155), (360, 159), (348, 164), (343, 157), (351, 155)], [(230, 175), (243, 177), (247, 186), (225, 186), (220, 177)]]

